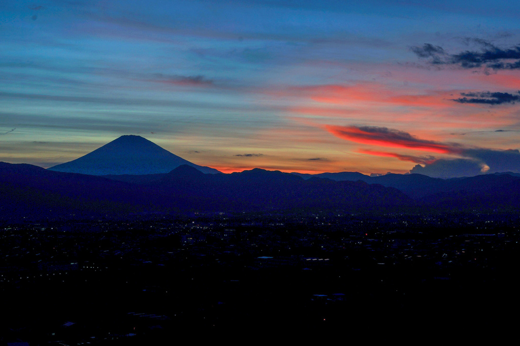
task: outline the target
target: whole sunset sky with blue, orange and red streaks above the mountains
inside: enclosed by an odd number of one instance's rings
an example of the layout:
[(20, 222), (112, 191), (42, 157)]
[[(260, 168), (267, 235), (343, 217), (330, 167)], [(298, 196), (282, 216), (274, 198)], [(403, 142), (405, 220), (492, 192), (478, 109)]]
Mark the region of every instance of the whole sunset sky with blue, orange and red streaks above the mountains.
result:
[(520, 2), (0, 3), (0, 161), (137, 134), (222, 172), (520, 172)]

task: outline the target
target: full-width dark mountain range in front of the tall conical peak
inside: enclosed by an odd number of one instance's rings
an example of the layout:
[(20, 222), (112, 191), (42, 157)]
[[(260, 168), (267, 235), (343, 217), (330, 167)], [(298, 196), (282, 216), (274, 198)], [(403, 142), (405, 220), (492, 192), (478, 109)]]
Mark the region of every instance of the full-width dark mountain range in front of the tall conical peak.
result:
[[(447, 185), (438, 186), (434, 180), (428, 187), (432, 193), (414, 199), (380, 184), (318, 177), (304, 180), (294, 174), (261, 169), (204, 174), (181, 165), (155, 178), (127, 183), (2, 162), (0, 217), (19, 220), (241, 211), (520, 211), (520, 177), (509, 174), (480, 175), (457, 182), (449, 179)], [(433, 179), (414, 175), (399, 178), (410, 178), (410, 186)]]

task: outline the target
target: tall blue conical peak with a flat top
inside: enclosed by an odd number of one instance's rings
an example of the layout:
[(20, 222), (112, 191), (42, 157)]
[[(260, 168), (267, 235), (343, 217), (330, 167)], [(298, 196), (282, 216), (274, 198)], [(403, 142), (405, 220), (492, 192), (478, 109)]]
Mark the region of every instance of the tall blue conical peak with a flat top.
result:
[(203, 173), (219, 173), (185, 160), (141, 136), (124, 135), (70, 162), (49, 168), (51, 171), (91, 175), (136, 175), (167, 173), (187, 164)]

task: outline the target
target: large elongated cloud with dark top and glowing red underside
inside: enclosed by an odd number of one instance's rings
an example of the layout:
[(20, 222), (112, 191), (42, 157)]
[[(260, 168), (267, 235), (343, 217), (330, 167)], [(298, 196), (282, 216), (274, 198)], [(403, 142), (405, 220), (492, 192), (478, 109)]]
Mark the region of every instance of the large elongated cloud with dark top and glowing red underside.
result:
[(408, 132), (384, 127), (326, 125), (325, 129), (336, 137), (362, 144), (431, 151), (439, 154), (456, 154), (460, 151), (454, 145), (421, 140)]

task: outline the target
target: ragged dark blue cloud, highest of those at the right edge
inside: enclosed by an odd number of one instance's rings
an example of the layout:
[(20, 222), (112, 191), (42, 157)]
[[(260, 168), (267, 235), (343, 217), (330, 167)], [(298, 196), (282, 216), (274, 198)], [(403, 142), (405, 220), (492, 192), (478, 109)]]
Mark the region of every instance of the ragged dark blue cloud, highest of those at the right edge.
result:
[[(470, 38), (466, 38), (469, 41)], [(457, 54), (447, 54), (440, 46), (424, 44), (422, 47), (411, 47), (419, 58), (430, 58), (432, 64), (459, 65), (463, 68), (488, 67), (493, 70), (517, 70), (520, 68), (520, 45), (510, 48), (499, 48), (490, 42), (473, 38), (479, 50), (465, 50)]]

